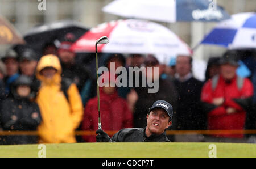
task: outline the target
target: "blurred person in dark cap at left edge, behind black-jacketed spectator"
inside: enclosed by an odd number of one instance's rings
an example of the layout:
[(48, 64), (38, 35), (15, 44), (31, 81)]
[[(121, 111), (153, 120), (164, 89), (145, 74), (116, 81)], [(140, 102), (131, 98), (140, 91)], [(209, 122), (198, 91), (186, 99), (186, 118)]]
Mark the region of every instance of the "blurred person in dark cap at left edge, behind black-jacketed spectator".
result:
[(9, 95), (11, 83), (19, 77), (18, 53), (9, 49), (5, 56), (2, 57), (2, 61), (6, 66), (6, 77), (3, 78), (3, 82), (5, 82), (5, 94)]

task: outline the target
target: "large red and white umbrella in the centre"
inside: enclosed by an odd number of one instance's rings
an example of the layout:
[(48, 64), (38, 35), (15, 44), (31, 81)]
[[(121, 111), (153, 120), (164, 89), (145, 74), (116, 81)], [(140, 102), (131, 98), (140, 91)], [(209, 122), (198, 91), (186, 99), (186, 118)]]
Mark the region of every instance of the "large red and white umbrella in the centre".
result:
[(170, 29), (145, 20), (126, 19), (102, 23), (90, 29), (71, 47), (75, 52), (94, 52), (95, 42), (108, 36), (108, 44), (99, 44), (98, 52), (125, 54), (191, 55), (192, 50)]

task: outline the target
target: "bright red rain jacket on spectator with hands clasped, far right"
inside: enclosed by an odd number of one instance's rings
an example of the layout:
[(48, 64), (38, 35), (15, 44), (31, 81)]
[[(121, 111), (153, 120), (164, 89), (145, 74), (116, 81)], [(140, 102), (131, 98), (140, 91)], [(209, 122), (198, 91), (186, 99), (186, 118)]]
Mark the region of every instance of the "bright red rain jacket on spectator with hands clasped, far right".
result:
[[(246, 99), (253, 96), (253, 84), (247, 78), (243, 79), (243, 86), (238, 88), (237, 77), (226, 83), (221, 76), (213, 91), (212, 79), (204, 84), (201, 92), (201, 101), (212, 104), (214, 98), (224, 98), (224, 103), (208, 112), (209, 130), (242, 130), (245, 128), (246, 111), (234, 102), (233, 99)], [(228, 114), (226, 109), (232, 107), (235, 113)], [(216, 137), (243, 138), (243, 134), (226, 134)]]

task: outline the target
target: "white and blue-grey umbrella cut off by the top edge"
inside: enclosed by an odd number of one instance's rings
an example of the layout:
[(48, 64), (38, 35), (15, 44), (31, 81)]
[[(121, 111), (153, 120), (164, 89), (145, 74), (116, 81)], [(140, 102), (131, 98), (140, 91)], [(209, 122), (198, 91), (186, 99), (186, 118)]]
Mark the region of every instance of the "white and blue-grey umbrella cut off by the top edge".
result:
[(160, 22), (218, 22), (230, 18), (216, 1), (209, 0), (115, 0), (102, 10), (126, 18)]

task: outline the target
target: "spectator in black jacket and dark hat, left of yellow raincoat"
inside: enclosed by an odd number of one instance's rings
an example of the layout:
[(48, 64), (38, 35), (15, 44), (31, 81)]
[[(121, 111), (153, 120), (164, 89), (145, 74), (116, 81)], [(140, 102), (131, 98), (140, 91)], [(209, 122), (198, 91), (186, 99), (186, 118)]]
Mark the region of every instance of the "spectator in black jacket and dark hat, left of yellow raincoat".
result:
[[(1, 104), (0, 121), (3, 130), (35, 131), (41, 122), (40, 110), (35, 102), (29, 100), (31, 79), (21, 75), (11, 85), (11, 93)], [(37, 143), (36, 136), (5, 136), (7, 145)]]

